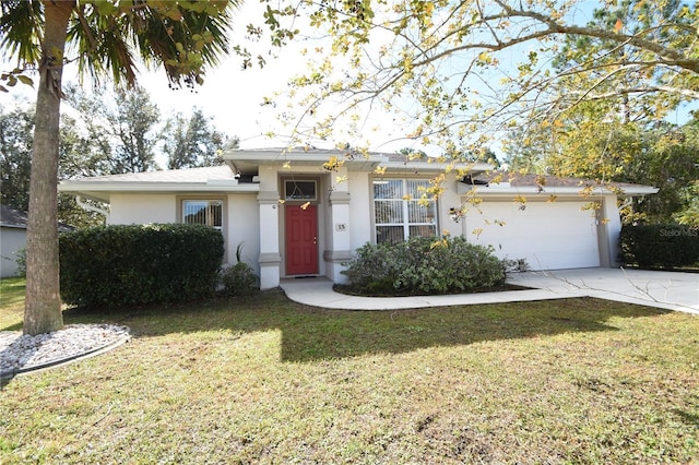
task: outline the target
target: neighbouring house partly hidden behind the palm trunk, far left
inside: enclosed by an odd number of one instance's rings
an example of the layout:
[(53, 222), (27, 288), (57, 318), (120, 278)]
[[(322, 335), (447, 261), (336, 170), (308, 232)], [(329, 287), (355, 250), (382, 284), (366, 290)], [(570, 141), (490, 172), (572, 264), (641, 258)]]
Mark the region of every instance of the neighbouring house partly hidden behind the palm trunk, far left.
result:
[[(0, 205), (0, 277), (15, 276), (20, 271), (17, 253), (26, 248), (26, 212)], [(59, 223), (58, 230), (67, 231), (71, 226)]]

